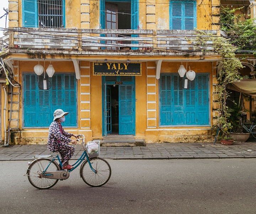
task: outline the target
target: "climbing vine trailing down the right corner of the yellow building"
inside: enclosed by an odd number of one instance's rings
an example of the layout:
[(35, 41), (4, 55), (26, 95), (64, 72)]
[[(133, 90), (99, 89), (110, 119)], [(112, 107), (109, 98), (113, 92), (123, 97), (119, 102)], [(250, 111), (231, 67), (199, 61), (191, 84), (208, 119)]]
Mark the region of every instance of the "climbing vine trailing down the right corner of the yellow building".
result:
[(219, 84), (216, 87), (216, 92), (219, 101), (219, 114), (216, 126), (222, 130), (222, 138), (228, 138), (233, 126), (229, 120), (230, 112), (226, 104), (230, 96), (227, 85), (241, 79), (238, 70), (243, 66), (241, 61), (236, 58), (235, 51), (237, 48), (228, 39), (214, 37), (211, 34), (206, 34), (198, 30), (196, 31), (196, 35), (197, 37), (194, 43), (197, 46), (204, 45), (206, 41), (213, 41), (214, 51), (217, 51), (221, 56), (217, 73)]

